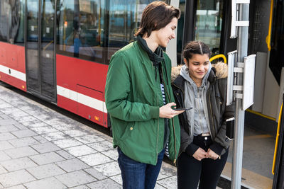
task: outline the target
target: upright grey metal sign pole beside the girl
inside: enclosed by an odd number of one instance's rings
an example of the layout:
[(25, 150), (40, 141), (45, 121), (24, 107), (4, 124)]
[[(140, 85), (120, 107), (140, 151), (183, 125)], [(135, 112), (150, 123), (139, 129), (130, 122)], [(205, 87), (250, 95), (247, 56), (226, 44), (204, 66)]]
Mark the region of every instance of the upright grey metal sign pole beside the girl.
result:
[[(249, 21), (249, 4), (239, 4), (239, 21)], [(238, 62), (244, 62), (244, 57), (248, 52), (248, 38), (249, 27), (239, 27), (239, 35), (237, 41)], [(236, 85), (243, 85), (242, 73), (237, 73)], [(237, 93), (237, 92), (236, 92)], [(236, 112), (235, 112), (235, 128), (234, 128), (234, 156), (231, 169), (231, 188), (241, 188), (241, 167), (243, 159), (243, 147), (244, 147), (244, 110), (242, 108), (242, 99), (236, 98)]]

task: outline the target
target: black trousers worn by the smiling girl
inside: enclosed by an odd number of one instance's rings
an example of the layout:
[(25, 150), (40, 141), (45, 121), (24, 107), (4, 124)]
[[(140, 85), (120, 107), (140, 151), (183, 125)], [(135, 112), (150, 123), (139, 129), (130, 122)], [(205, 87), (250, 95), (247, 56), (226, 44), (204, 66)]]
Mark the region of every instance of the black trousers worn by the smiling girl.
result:
[[(205, 151), (212, 144), (211, 137), (196, 136), (193, 143)], [(178, 157), (178, 188), (196, 189), (199, 182), (200, 189), (216, 189), (217, 182), (226, 164), (228, 151), (221, 156), (221, 159), (202, 159), (198, 161), (186, 152)]]

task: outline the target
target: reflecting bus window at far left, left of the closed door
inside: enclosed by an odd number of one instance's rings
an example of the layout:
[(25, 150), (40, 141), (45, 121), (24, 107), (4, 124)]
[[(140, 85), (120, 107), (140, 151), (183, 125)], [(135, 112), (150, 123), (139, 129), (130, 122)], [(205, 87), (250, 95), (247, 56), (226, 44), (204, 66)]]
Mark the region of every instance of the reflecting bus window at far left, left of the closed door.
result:
[(23, 45), (24, 2), (0, 1), (0, 41)]

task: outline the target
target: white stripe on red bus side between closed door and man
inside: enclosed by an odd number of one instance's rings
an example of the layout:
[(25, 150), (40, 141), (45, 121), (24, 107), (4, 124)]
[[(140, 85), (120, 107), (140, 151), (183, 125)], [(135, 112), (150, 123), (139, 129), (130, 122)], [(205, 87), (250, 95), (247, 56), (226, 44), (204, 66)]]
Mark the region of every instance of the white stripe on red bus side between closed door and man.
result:
[(69, 98), (70, 100), (75, 101), (77, 103), (87, 105), (90, 108), (94, 108), (94, 109), (99, 110), (103, 113), (107, 113), (107, 107), (106, 107), (106, 103), (104, 101), (99, 101), (96, 98), (86, 96), (82, 93), (72, 91), (72, 90), (70, 90), (68, 88), (64, 88), (62, 86), (57, 86), (57, 89), (58, 89), (58, 95), (60, 95), (60, 96), (63, 96), (65, 98)]

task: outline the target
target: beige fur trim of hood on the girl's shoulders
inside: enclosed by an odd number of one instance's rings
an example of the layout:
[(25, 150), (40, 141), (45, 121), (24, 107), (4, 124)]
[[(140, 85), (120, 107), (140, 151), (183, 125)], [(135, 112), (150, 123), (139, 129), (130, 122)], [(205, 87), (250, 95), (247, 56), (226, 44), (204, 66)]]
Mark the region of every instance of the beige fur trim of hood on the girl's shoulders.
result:
[[(183, 64), (179, 65), (178, 67), (172, 67), (171, 79), (170, 81), (173, 82), (175, 79), (180, 75), (180, 69)], [(226, 78), (228, 76), (228, 65), (224, 62), (217, 62), (217, 64), (212, 64), (212, 68), (216, 70), (216, 77), (217, 79)]]

